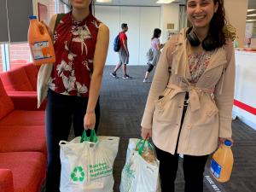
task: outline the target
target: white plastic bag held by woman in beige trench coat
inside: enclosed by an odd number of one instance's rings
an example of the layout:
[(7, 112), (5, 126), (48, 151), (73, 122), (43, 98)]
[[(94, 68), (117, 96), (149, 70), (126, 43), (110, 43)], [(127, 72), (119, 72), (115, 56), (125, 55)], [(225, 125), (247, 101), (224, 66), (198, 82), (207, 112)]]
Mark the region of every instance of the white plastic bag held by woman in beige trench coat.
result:
[(129, 140), (120, 192), (160, 192), (159, 160), (148, 140)]

